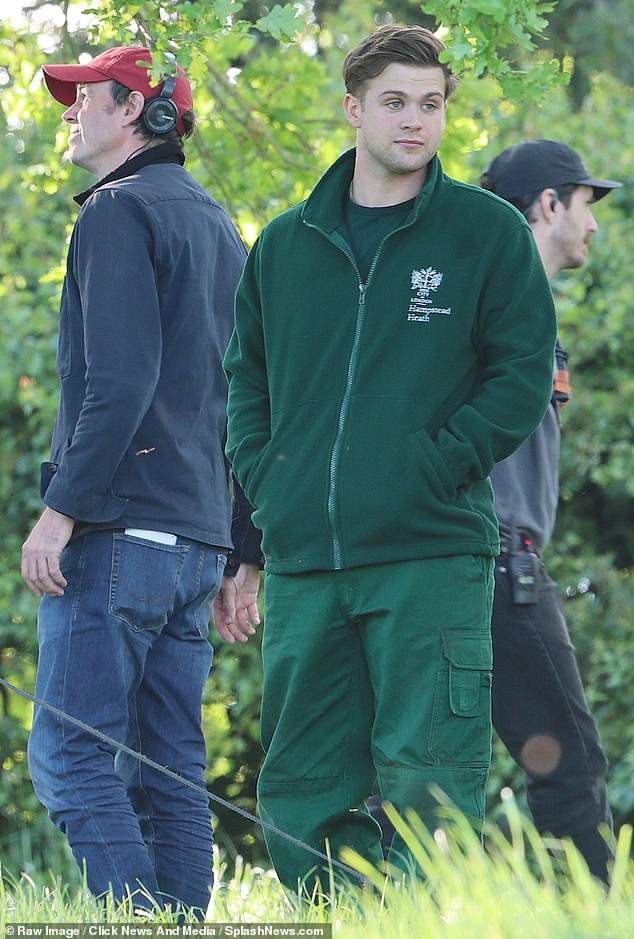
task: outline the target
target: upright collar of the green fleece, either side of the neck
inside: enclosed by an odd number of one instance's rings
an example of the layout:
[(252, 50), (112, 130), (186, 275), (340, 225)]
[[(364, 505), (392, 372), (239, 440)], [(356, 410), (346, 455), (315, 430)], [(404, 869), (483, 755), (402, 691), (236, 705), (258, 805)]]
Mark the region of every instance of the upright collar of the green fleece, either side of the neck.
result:
[[(343, 153), (321, 177), (302, 208), (302, 219), (309, 225), (321, 228), (327, 234), (340, 227), (343, 221), (344, 198), (350, 191), (354, 173), (356, 149)], [(409, 222), (415, 221), (431, 193), (443, 177), (438, 156), (429, 164), (427, 178), (416, 197)]]

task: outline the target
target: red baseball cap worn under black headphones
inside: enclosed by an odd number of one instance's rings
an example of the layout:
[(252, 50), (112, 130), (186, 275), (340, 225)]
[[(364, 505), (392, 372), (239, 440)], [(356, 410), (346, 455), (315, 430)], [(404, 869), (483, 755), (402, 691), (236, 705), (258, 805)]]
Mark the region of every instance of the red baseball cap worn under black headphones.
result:
[[(43, 65), (44, 80), (48, 90), (56, 101), (70, 107), (77, 97), (77, 85), (81, 82), (118, 81), (130, 91), (140, 91), (145, 100), (154, 98), (161, 93), (162, 85), (150, 85), (150, 75), (147, 68), (138, 62), (152, 63), (152, 53), (145, 46), (115, 46), (100, 52), (90, 62), (84, 65)], [(166, 63), (167, 71), (173, 72), (174, 66)], [(182, 118), (185, 111), (194, 107), (192, 89), (185, 72), (176, 66), (176, 87), (172, 101), (178, 108), (178, 116)], [(185, 125), (179, 119), (176, 129), (184, 135)]]

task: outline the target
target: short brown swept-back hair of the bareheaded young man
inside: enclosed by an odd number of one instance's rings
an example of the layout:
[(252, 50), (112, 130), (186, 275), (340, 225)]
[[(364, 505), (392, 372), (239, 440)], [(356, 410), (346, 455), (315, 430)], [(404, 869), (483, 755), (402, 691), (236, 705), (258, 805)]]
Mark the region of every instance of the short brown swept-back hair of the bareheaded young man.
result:
[(346, 91), (355, 98), (363, 97), (365, 86), (393, 62), (440, 68), (445, 76), (445, 98), (456, 90), (458, 76), (439, 59), (445, 48), (430, 30), (423, 26), (382, 26), (354, 49), (343, 63)]

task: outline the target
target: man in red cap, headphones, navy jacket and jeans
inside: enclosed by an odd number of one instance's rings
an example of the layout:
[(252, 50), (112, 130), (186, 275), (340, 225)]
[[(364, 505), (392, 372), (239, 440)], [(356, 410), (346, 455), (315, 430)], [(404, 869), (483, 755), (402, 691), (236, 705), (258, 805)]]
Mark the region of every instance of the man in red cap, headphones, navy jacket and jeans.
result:
[(42, 598), (37, 694), (57, 709), (36, 708), (29, 767), (96, 896), (204, 916), (211, 602), (232, 551), (223, 594), (258, 583), (257, 564), (239, 564), (223, 448), (222, 356), (245, 252), (183, 166), (187, 78), (168, 61), (153, 86), (150, 64), (130, 47), (44, 67), (67, 106), (69, 158), (99, 181), (76, 197), (45, 507), (22, 551)]

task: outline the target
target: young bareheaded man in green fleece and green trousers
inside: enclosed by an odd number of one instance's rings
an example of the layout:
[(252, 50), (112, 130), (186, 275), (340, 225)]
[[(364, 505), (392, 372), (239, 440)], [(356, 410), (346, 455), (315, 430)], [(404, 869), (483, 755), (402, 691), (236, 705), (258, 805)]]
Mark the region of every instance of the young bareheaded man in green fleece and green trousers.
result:
[[(349, 53), (356, 148), (261, 233), (225, 360), (228, 454), (266, 559), (260, 812), (334, 858), (381, 859), (375, 784), (431, 829), (435, 787), (483, 818), (489, 473), (552, 388), (530, 228), (436, 155), (443, 48), (389, 26)], [(267, 841), (283, 883), (327, 886), (314, 856)], [(391, 858), (407, 864), (398, 837)]]

